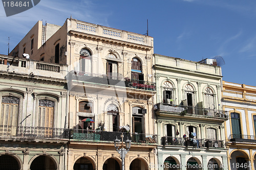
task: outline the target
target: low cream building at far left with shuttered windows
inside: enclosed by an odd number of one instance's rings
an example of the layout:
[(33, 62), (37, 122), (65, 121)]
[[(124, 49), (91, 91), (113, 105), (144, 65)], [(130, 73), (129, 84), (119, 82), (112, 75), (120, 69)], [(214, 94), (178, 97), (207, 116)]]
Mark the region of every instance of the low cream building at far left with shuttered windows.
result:
[(67, 65), (0, 55), (1, 169), (64, 169)]

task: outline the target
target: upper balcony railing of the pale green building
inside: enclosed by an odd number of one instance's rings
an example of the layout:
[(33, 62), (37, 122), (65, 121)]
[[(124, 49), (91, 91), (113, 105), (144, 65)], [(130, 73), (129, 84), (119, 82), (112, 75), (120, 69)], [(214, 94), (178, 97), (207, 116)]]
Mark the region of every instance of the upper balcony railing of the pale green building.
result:
[(195, 115), (202, 115), (202, 116), (228, 118), (228, 112), (224, 110), (210, 109), (210, 108), (207, 109), (207, 108), (194, 107), (194, 106), (171, 105), (166, 103), (158, 103), (157, 111), (179, 113), (181, 115), (195, 114)]

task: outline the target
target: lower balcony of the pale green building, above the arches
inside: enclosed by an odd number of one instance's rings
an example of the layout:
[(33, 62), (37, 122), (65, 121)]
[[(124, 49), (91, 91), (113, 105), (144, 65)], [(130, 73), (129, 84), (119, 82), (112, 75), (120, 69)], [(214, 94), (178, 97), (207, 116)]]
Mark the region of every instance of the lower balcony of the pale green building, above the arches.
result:
[(175, 146), (181, 146), (181, 147), (194, 147), (194, 148), (224, 148), (223, 140), (168, 137), (168, 136), (164, 136), (161, 138), (161, 144), (175, 145)]

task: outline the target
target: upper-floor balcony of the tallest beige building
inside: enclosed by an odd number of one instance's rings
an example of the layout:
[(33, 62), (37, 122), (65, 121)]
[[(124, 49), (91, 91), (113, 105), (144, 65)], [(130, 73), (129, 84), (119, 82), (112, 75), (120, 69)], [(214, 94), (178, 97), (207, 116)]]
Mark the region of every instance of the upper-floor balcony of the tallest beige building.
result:
[(92, 74), (82, 71), (70, 71), (67, 75), (67, 80), (71, 82), (81, 82), (81, 83), (91, 83), (98, 85), (112, 85), (119, 87), (129, 87), (140, 90), (156, 90), (156, 83), (133, 80), (133, 79), (124, 79), (122, 77), (106, 76), (99, 74)]

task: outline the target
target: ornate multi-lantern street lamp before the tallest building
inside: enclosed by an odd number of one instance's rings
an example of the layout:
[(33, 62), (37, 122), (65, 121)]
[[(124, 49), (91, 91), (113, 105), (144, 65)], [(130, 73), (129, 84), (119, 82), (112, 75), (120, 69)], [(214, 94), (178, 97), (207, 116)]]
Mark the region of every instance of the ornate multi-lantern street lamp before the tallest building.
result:
[(122, 159), (122, 170), (124, 170), (124, 158), (125, 158), (125, 155), (128, 153), (129, 149), (131, 148), (131, 140), (128, 139), (127, 137), (127, 140), (125, 140), (125, 147), (126, 149), (123, 148), (123, 133), (121, 135), (121, 138), (122, 138), (122, 148), (119, 148), (119, 144), (120, 144), (120, 139), (117, 139), (117, 136), (116, 136), (116, 139), (114, 140), (114, 143), (115, 143), (115, 148), (116, 148), (116, 151), (118, 154), (120, 154), (120, 157)]

